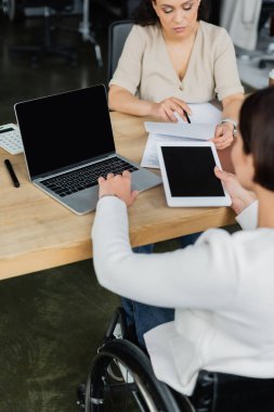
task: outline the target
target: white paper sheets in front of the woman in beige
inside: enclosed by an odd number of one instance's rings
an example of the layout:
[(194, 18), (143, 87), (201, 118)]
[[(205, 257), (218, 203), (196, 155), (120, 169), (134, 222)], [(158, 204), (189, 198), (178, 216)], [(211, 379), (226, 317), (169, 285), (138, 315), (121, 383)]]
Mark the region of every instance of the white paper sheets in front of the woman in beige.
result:
[(192, 110), (191, 124), (178, 117), (178, 123), (145, 121), (148, 132), (141, 166), (159, 168), (157, 142), (178, 142), (196, 139), (209, 140), (214, 136), (216, 126), (221, 121), (221, 111), (211, 103), (190, 104)]

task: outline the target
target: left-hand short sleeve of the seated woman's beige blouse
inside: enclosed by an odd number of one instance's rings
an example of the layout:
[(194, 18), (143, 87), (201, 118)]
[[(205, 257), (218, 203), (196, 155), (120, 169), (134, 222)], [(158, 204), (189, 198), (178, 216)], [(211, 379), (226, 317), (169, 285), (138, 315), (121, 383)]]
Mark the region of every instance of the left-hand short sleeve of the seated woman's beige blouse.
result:
[(146, 39), (142, 27), (134, 25), (125, 42), (117, 68), (109, 81), (135, 94), (141, 81), (142, 56)]

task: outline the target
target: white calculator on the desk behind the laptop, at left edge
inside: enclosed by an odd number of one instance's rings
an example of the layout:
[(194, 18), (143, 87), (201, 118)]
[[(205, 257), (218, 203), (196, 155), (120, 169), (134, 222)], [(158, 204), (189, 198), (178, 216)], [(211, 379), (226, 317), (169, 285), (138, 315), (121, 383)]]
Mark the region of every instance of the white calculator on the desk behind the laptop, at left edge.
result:
[(24, 152), (19, 129), (16, 125), (10, 123), (0, 126), (0, 147), (11, 154)]

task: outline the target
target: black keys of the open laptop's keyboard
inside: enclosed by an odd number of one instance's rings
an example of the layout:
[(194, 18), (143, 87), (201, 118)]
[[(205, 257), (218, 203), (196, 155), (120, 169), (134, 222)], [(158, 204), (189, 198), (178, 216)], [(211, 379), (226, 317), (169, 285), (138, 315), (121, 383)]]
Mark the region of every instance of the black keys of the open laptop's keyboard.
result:
[(43, 180), (41, 183), (57, 193), (61, 197), (97, 184), (97, 179), (107, 173), (121, 175), (123, 170), (134, 171), (136, 167), (119, 157), (112, 157), (96, 164), (69, 171), (54, 178)]

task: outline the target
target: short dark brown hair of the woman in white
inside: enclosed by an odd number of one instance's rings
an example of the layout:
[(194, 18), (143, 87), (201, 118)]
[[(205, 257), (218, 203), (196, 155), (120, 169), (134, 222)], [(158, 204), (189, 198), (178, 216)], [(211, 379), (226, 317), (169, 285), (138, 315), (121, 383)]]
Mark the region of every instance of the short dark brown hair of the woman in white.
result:
[(274, 191), (274, 87), (261, 89), (243, 103), (239, 130), (244, 152), (252, 154), (255, 182)]

